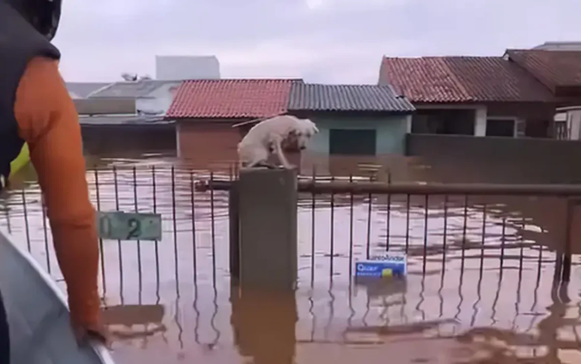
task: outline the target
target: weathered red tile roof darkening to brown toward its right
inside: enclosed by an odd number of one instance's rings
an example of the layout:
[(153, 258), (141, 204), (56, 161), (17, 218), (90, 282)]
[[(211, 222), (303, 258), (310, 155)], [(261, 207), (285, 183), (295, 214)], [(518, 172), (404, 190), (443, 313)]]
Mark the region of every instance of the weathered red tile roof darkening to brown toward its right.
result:
[(550, 102), (553, 94), (526, 70), (501, 57), (383, 58), (380, 84), (411, 102)]

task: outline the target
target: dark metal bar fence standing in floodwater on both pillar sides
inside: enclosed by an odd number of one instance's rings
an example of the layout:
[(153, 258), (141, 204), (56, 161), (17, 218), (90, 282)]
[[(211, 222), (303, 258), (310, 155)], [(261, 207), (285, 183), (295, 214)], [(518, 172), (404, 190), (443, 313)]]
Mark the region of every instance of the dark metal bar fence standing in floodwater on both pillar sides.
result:
[[(202, 274), (216, 280), (218, 273), (228, 273), (221, 262), (228, 260), (227, 190), (232, 179), (234, 173), (173, 167), (90, 171), (91, 199), (98, 210), (163, 216), (163, 241), (100, 242), (103, 286), (105, 265), (112, 263), (108, 258), (117, 260), (120, 279), (125, 266), (134, 265), (141, 274), (146, 261), (155, 263), (156, 272), (163, 270), (168, 254), (176, 281), (180, 263), (190, 267), (191, 279)], [(206, 181), (205, 188), (200, 181)], [(571, 197), (581, 195), (574, 185), (386, 185), (355, 177), (311, 176), (300, 177), (299, 191), (299, 262), (310, 268), (308, 277), (300, 277), (303, 283), (348, 278), (354, 259), (385, 251), (405, 252), (411, 266), (422, 273), (445, 272), (455, 261), (462, 272), (477, 258), (480, 270), (496, 264), (502, 271), (516, 262), (519, 270), (534, 264), (538, 273), (551, 265), (555, 277), (571, 276), (576, 206)], [(12, 192), (3, 223), (24, 235), (28, 250), (43, 256), (49, 272), (58, 270), (36, 185)], [(133, 252), (129, 245), (134, 245)], [(153, 256), (143, 251), (152, 248)], [(199, 251), (207, 254), (200, 257)], [(205, 258), (210, 261), (198, 262)]]

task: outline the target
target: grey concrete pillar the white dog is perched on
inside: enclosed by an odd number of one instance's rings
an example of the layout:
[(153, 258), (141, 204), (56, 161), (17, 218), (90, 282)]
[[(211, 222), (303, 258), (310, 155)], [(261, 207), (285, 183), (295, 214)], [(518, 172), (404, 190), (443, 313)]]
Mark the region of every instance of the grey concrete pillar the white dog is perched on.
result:
[(242, 169), (240, 286), (290, 289), (297, 280), (297, 172)]

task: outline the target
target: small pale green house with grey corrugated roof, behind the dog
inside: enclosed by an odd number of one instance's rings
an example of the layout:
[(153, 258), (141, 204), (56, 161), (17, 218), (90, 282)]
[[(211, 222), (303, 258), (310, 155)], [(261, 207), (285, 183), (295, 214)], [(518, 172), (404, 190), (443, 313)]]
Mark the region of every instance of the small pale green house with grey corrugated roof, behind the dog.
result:
[(302, 154), (302, 172), (342, 175), (362, 162), (390, 165), (404, 154), (414, 110), (389, 86), (293, 83), (288, 112), (320, 130)]

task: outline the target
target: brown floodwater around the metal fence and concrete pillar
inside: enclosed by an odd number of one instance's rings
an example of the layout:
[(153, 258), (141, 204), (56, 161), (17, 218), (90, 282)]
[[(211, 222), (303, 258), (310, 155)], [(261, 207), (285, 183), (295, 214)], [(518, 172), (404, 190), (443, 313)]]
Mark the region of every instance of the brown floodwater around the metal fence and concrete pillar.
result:
[[(313, 208), (302, 194), (299, 288), (241, 292), (228, 273), (227, 193), (192, 194), (203, 178), (163, 156), (100, 160), (87, 174), (99, 209), (163, 215), (162, 241), (102, 242), (118, 363), (581, 361), (578, 255), (571, 283), (553, 287), (562, 201), (327, 195)], [(21, 187), (0, 223), (62, 285), (38, 186)], [(406, 280), (350, 280), (354, 260), (388, 247), (407, 251)]]

